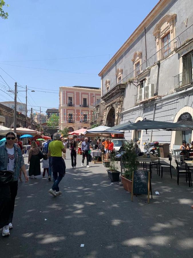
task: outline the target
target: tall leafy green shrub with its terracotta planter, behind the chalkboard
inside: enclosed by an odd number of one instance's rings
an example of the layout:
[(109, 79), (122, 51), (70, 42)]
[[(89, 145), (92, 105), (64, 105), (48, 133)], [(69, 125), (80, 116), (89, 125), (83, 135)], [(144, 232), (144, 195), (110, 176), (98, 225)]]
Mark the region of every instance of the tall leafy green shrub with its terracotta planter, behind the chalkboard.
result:
[(125, 167), (125, 173), (122, 177), (122, 183), (124, 189), (132, 192), (132, 174), (133, 171), (137, 170), (137, 155), (135, 150), (134, 141), (130, 140), (124, 145), (124, 155), (122, 162)]

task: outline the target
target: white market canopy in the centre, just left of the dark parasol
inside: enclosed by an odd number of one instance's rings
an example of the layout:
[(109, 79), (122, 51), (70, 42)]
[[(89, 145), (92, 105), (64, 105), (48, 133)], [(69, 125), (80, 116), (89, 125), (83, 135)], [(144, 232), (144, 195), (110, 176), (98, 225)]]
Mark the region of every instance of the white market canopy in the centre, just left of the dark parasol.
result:
[(88, 137), (94, 137), (94, 136), (109, 136), (110, 134), (124, 134), (124, 131), (119, 131), (119, 130), (110, 130), (111, 127), (109, 126), (97, 126), (94, 127), (90, 130), (87, 130), (85, 133), (85, 136)]

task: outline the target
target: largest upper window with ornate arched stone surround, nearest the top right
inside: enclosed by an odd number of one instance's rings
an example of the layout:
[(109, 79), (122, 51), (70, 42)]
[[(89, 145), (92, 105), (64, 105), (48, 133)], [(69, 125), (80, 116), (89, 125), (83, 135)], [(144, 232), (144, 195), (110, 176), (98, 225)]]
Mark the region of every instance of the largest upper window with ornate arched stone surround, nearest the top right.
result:
[(157, 56), (157, 59), (160, 60), (174, 50), (175, 42), (173, 42), (173, 39), (176, 37), (176, 13), (164, 15), (156, 24), (153, 35), (156, 38), (157, 51), (160, 50)]

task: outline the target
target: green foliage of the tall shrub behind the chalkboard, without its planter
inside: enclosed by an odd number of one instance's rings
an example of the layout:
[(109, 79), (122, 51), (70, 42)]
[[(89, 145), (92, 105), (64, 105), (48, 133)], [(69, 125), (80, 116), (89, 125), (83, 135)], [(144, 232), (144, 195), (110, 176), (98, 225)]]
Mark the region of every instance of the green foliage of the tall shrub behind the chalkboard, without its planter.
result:
[(137, 170), (137, 155), (135, 149), (135, 142), (130, 140), (126, 142), (123, 147), (125, 153), (122, 157), (122, 162), (125, 167), (124, 177), (132, 180), (133, 171)]

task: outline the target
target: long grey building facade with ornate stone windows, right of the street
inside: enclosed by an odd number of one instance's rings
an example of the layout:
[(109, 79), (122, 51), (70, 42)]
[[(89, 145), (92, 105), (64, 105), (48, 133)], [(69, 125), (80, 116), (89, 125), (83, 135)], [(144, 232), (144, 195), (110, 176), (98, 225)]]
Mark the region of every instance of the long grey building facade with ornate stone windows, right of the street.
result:
[[(191, 0), (160, 0), (99, 73), (101, 77), (101, 123), (150, 120), (177, 122), (193, 117), (193, 16)], [(123, 86), (122, 86), (123, 85)], [(112, 99), (113, 92), (120, 94)], [(111, 101), (110, 101), (111, 99)], [(108, 102), (109, 101), (109, 102)], [(110, 107), (108, 107), (110, 103)], [(114, 109), (115, 117), (108, 116)], [(112, 117), (109, 122), (108, 118)], [(134, 132), (125, 132), (134, 139)], [(182, 132), (137, 132), (145, 141), (179, 145)], [(192, 131), (186, 140), (193, 140)]]

